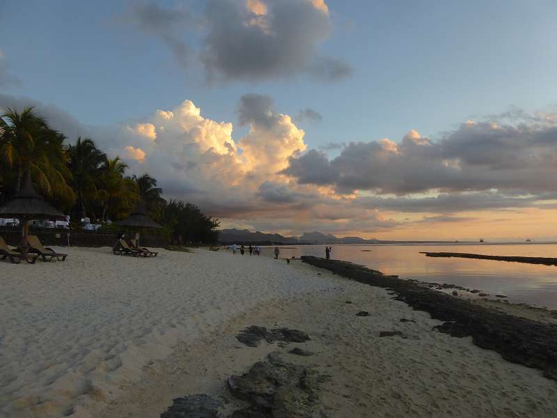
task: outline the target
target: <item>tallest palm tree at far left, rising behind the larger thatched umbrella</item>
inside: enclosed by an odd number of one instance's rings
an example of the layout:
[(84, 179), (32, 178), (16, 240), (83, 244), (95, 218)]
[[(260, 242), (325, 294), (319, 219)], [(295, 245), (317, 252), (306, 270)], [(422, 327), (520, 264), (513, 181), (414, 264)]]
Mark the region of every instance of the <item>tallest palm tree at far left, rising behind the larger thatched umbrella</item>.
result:
[(63, 142), (65, 137), (52, 130), (44, 118), (26, 107), (21, 113), (6, 109), (0, 116), (0, 161), (16, 178), (19, 189), (25, 171), (31, 171), (42, 194), (67, 206), (74, 200), (68, 185), (72, 173)]

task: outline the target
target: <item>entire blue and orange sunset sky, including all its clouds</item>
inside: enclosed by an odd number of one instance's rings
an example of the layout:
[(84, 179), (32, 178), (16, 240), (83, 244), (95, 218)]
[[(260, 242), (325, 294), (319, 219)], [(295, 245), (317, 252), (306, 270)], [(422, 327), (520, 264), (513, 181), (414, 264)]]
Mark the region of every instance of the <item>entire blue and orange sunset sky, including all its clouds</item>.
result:
[(553, 0), (0, 0), (0, 107), (225, 228), (554, 240), (556, 20)]

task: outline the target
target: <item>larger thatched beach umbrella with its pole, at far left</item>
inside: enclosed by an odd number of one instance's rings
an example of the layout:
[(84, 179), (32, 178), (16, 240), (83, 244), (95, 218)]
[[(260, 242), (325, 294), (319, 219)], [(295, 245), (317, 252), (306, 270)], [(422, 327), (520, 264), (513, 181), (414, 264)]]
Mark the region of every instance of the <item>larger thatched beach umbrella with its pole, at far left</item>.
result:
[[(31, 183), (31, 171), (26, 170), (22, 187), (12, 199), (0, 206), (0, 217), (12, 217), (22, 222), (22, 246), (27, 245), (29, 221), (31, 219), (65, 219), (65, 215), (50, 206), (35, 192)], [(24, 248), (24, 252), (26, 249)]]

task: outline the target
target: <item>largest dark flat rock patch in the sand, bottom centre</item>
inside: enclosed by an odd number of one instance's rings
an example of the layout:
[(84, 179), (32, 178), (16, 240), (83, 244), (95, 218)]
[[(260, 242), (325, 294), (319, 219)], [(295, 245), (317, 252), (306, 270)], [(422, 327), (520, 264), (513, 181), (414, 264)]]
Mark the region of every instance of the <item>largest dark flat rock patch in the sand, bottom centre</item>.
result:
[(233, 396), (249, 403), (233, 418), (313, 418), (319, 412), (318, 391), (325, 378), (272, 353), (242, 376), (228, 379)]

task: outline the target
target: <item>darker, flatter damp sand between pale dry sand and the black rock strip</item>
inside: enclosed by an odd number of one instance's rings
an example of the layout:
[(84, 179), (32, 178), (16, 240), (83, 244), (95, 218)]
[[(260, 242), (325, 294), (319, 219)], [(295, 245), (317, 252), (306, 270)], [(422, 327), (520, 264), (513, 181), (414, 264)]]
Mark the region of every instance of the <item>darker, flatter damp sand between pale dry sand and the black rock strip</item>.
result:
[[(553, 401), (557, 385), (537, 370), (507, 362), (492, 350), (474, 346), (471, 339), (432, 332), (441, 321), (396, 300), (384, 288), (299, 260), (280, 264), (285, 270), (311, 269), (335, 286), (330, 291), (262, 302), (229, 318), (202, 341), (180, 344), (168, 358), (145, 369), (140, 382), (95, 417), (158, 417), (174, 399), (198, 396), (222, 401), (226, 416), (232, 416), (246, 403), (230, 394), (228, 379), (246, 373), (269, 353), (329, 376), (315, 396), (317, 406), (331, 418), (549, 418), (557, 413)], [(370, 316), (358, 316), (362, 310)], [(292, 327), (307, 332), (311, 340), (245, 346), (237, 334), (251, 325)], [(292, 348), (313, 355), (292, 355)], [(306, 417), (301, 412), (299, 416)]]

